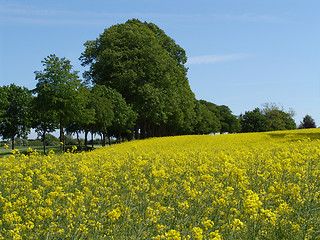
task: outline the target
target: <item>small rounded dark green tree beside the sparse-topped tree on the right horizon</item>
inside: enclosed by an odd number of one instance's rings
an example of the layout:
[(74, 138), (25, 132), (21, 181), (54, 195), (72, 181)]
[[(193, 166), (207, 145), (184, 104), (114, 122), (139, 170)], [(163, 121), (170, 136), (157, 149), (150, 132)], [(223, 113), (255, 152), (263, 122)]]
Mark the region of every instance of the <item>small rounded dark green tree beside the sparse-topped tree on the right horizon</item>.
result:
[(240, 124), (242, 132), (264, 132), (267, 130), (267, 118), (259, 108), (240, 115)]

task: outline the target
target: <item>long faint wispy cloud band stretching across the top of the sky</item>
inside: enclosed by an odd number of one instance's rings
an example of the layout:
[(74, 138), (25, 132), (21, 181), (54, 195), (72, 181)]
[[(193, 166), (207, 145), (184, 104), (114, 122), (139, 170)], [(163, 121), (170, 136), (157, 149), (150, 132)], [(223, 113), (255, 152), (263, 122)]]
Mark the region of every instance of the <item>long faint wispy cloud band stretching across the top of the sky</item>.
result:
[(108, 12), (108, 11), (76, 11), (47, 9), (39, 6), (0, 2), (0, 23), (24, 23), (24, 24), (104, 24), (106, 21), (128, 18), (170, 19), (194, 22), (197, 21), (263, 21), (271, 23), (283, 23), (285, 19), (274, 15), (254, 14), (168, 14), (157, 12)]

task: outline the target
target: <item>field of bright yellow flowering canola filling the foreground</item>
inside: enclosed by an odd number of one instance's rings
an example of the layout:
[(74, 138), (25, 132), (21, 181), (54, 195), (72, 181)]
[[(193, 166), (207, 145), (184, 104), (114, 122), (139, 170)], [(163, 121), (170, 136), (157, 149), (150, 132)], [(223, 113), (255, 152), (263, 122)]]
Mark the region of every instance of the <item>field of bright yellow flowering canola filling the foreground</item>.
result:
[(320, 130), (0, 159), (1, 239), (320, 239)]

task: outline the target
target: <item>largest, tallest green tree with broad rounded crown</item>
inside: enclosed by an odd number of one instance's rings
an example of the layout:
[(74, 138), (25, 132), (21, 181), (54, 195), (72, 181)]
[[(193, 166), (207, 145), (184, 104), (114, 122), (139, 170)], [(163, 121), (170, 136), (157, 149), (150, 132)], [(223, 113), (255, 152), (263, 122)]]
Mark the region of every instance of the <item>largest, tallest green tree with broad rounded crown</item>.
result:
[(118, 91), (138, 114), (138, 137), (192, 131), (185, 51), (152, 23), (128, 20), (85, 43), (87, 80)]

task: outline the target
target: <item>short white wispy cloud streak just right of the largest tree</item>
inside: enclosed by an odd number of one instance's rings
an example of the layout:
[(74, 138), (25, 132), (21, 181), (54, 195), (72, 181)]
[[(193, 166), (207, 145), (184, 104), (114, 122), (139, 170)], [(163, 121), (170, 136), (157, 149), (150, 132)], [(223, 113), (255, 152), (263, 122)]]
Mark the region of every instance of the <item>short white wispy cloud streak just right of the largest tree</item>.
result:
[(213, 64), (213, 63), (219, 63), (219, 62), (228, 62), (228, 61), (245, 59), (247, 57), (249, 57), (249, 55), (243, 54), (243, 53), (196, 56), (196, 57), (189, 57), (187, 64), (190, 64), (190, 65)]

